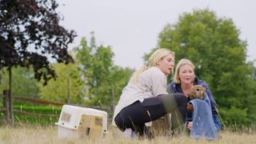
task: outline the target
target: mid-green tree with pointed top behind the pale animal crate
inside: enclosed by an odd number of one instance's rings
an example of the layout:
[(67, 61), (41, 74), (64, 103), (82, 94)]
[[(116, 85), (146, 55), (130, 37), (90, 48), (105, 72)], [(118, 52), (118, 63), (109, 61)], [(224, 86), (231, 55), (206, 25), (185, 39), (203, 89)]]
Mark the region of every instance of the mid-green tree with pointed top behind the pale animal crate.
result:
[(128, 82), (132, 70), (114, 66), (114, 53), (110, 46), (97, 46), (94, 33), (90, 46), (82, 38), (80, 46), (75, 48), (77, 58), (82, 64), (85, 81), (86, 104), (90, 106), (111, 106), (121, 94)]

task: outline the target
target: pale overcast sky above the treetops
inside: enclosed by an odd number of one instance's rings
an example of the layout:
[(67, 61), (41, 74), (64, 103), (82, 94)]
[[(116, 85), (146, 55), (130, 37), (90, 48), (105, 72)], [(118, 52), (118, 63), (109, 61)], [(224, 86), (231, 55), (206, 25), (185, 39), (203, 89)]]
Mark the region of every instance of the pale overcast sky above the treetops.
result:
[[(114, 64), (138, 69), (143, 55), (157, 47), (158, 34), (166, 24), (175, 24), (184, 12), (208, 8), (218, 18), (231, 18), (246, 40), (247, 60), (256, 59), (256, 1), (254, 0), (57, 0), (60, 22), (78, 37), (89, 41), (94, 31), (97, 45), (110, 46)], [(254, 63), (255, 64), (255, 63)]]

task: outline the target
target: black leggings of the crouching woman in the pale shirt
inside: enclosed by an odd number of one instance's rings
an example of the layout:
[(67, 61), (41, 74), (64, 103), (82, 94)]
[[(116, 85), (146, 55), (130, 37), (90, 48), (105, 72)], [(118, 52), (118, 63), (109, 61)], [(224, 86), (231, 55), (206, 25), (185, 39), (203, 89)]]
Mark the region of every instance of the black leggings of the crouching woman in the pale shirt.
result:
[(166, 98), (163, 97), (171, 96), (174, 97), (177, 104), (174, 110), (178, 110), (184, 120), (186, 116), (186, 97), (183, 94), (164, 94), (145, 98), (143, 102), (136, 101), (130, 106), (126, 106), (114, 118), (114, 122), (122, 131), (126, 130), (126, 128), (131, 128), (139, 132), (139, 134), (143, 134), (146, 122), (161, 118), (166, 114), (166, 111), (170, 112), (170, 110), (166, 110), (166, 106), (163, 103), (163, 99)]

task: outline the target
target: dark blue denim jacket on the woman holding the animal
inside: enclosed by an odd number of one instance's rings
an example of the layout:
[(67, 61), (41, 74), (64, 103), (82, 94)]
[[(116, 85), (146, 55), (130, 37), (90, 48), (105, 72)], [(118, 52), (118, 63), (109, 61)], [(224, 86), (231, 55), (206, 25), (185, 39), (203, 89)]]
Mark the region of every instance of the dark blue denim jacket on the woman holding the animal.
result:
[[(217, 127), (218, 130), (221, 130), (222, 125), (221, 122), (218, 118), (218, 111), (217, 111), (217, 103), (214, 100), (214, 95), (211, 93), (210, 89), (208, 88), (206, 82), (200, 80), (198, 77), (194, 78), (194, 85), (202, 85), (206, 88), (206, 94), (208, 98), (210, 99), (210, 106), (212, 110), (212, 116), (214, 119), (214, 124)], [(168, 93), (183, 93), (182, 92), (182, 86), (178, 83), (175, 82), (170, 82), (167, 86), (167, 92)], [(188, 99), (188, 102), (190, 99)], [(191, 122), (192, 121), (192, 113), (187, 112), (187, 117), (186, 117), (186, 122)]]

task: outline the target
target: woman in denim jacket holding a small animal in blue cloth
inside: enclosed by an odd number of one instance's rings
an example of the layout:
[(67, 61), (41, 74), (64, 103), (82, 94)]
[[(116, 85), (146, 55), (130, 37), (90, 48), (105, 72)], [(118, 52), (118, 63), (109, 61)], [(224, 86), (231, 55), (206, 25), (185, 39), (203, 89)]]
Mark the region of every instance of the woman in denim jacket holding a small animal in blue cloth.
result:
[[(192, 92), (191, 90), (194, 92), (191, 93)], [(213, 123), (213, 126), (210, 128), (214, 130), (214, 134), (211, 134), (211, 135), (213, 136), (212, 137), (213, 139), (216, 138), (215, 137), (216, 133), (222, 128), (221, 122), (218, 118), (217, 103), (215, 102), (214, 95), (211, 93), (206, 82), (200, 80), (198, 77), (195, 76), (194, 64), (190, 62), (190, 60), (183, 58), (178, 62), (178, 65), (176, 66), (176, 69), (174, 72), (174, 81), (170, 82), (170, 84), (167, 86), (167, 91), (170, 94), (182, 93), (186, 95), (187, 102), (192, 103), (194, 106), (194, 109), (196, 109), (196, 111), (192, 112), (193, 106), (188, 105), (189, 108), (186, 114), (186, 122), (188, 123), (187, 128), (189, 130), (192, 130), (191, 131), (192, 135), (194, 134), (194, 130), (198, 130), (198, 123), (204, 124), (206, 126), (210, 126), (210, 125), (207, 125), (206, 122), (202, 122), (202, 117), (204, 117), (204, 120), (206, 120), (207, 122), (212, 121), (210, 123)], [(202, 93), (202, 91), (204, 92)], [(194, 99), (194, 100), (191, 100), (191, 99)], [(207, 117), (200, 115), (200, 114), (205, 114), (202, 112), (202, 110), (206, 110), (206, 113), (209, 113)], [(196, 122), (194, 122), (194, 120), (196, 120)], [(175, 119), (172, 119), (171, 121), (175, 122)], [(201, 127), (202, 129), (206, 128), (203, 126)], [(215, 132), (215, 130), (217, 132)], [(209, 131), (209, 130), (201, 130), (201, 131)], [(195, 138), (198, 138), (198, 135), (195, 136)]]

